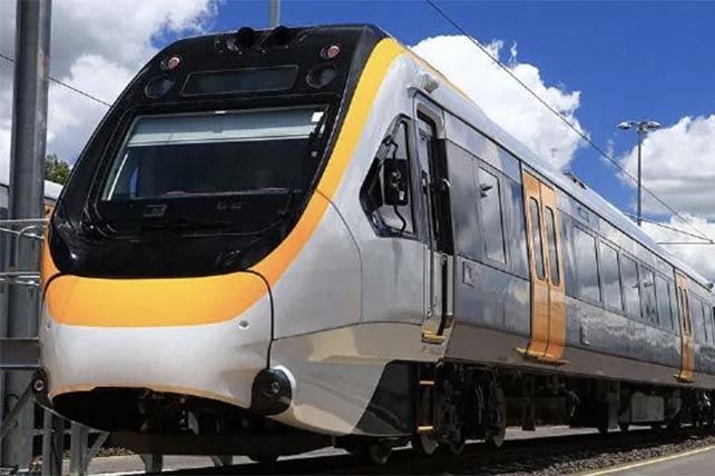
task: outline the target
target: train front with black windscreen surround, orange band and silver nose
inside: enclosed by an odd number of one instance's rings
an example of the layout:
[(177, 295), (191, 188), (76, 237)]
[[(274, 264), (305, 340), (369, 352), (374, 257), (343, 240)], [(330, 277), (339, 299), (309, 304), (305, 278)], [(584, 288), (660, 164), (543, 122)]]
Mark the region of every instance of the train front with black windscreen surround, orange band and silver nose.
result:
[[(284, 299), (272, 288), (329, 219), (356, 140), (341, 128), (381, 40), (370, 27), (242, 29), (178, 41), (138, 73), (80, 156), (43, 251), (58, 411), (204, 434), (291, 405), (294, 376), (271, 366)], [(326, 258), (358, 275), (340, 227)]]

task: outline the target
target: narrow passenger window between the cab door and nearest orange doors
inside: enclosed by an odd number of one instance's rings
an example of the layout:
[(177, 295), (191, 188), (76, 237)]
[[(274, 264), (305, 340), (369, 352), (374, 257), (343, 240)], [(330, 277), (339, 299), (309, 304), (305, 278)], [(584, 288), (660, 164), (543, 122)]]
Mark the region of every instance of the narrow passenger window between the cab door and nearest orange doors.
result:
[(506, 262), (505, 231), (501, 210), (499, 179), (491, 172), (479, 168), (479, 186), (482, 229), (484, 232), (484, 252), (487, 258)]

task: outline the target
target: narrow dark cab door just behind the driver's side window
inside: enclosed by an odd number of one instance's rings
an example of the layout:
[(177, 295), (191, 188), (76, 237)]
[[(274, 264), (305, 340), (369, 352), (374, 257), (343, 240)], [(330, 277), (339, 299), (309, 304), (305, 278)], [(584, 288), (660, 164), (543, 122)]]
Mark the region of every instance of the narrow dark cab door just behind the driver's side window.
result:
[(422, 190), (424, 248), (424, 319), (422, 340), (441, 344), (452, 319), (452, 224), (449, 204), (449, 180), (438, 126), (429, 117), (418, 115), (417, 146)]

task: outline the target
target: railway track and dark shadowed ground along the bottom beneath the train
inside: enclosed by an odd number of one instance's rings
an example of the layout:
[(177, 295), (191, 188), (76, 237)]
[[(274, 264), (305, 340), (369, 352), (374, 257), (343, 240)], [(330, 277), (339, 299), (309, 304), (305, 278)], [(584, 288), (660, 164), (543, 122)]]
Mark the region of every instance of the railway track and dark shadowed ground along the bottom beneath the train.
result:
[(395, 450), (384, 466), (352, 455), (280, 460), (272, 466), (242, 464), (172, 472), (169, 474), (543, 474), (600, 469), (634, 460), (715, 444), (712, 432), (684, 428), (666, 433), (635, 429), (608, 435), (579, 434), (507, 440), (493, 449), (483, 443), (467, 445), (460, 457), (418, 456), (410, 448)]

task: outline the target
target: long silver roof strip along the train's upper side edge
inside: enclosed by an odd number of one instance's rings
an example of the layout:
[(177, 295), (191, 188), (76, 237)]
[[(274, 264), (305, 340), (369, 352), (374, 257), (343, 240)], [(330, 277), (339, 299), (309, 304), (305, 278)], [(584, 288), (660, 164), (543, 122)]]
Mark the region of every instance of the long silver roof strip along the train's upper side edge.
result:
[[(582, 184), (580, 180), (575, 180), (574, 176), (569, 177), (566, 172), (555, 168), (549, 163), (548, 160), (539, 157), (531, 149), (529, 149), (513, 136), (511, 136), (511, 133), (507, 132), (496, 122), (493, 122), (467, 93), (454, 86), (449, 80), (449, 78), (447, 78), (439, 71), (439, 69), (434, 68), (429, 63), (429, 61), (413, 52), (411, 49), (410, 51), (414, 57), (419, 58), (420, 61), (427, 63), (427, 66), (432, 69), (433, 72), (438, 73), (444, 80), (444, 82), (447, 82), (449, 89), (453, 93), (445, 95), (444, 99), (447, 99), (447, 103), (444, 103), (443, 106), (449, 107), (452, 113), (456, 113), (462, 120), (479, 129), (482, 133), (490, 137), (505, 149), (517, 156), (525, 163), (550, 180), (561, 190), (577, 198), (584, 205), (589, 207), (595, 214), (599, 215), (606, 221), (610, 222), (613, 226), (630, 236), (638, 244), (643, 245), (655, 255), (659, 256), (660, 258), (670, 262), (673, 266), (677, 267), (679, 270), (687, 274), (699, 285), (704, 287), (708, 287), (712, 285), (712, 281), (703, 277), (699, 272), (690, 268), (688, 265), (680, 261), (667, 249), (656, 244), (656, 241), (650, 238), (645, 231), (643, 231), (640, 227), (636, 226), (636, 224), (634, 224), (633, 220), (626, 217), (618, 208), (616, 208), (613, 204), (607, 201), (596, 191), (590, 189), (586, 184)], [(477, 51), (474, 53), (477, 53)], [(505, 80), (507, 79), (505, 78)]]

